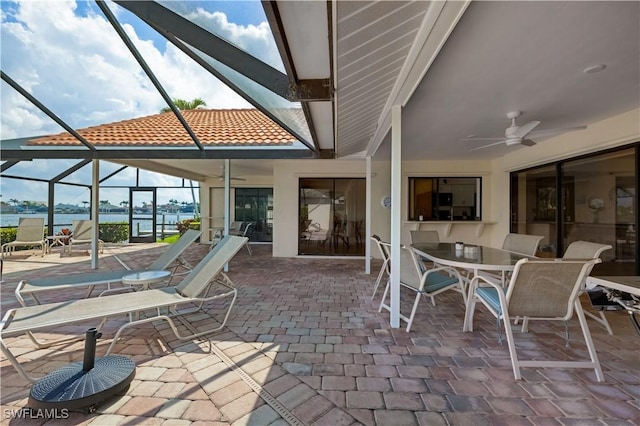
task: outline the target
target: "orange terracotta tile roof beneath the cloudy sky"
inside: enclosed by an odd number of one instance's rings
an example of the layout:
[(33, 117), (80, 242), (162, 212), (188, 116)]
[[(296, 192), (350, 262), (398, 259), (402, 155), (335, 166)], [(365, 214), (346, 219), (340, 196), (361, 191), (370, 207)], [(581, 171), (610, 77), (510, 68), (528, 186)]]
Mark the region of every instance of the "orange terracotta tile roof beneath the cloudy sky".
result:
[[(257, 109), (181, 111), (203, 146), (281, 146), (296, 138)], [(97, 147), (194, 146), (173, 112), (118, 121), (77, 130)], [(29, 145), (82, 146), (70, 133), (32, 139)]]

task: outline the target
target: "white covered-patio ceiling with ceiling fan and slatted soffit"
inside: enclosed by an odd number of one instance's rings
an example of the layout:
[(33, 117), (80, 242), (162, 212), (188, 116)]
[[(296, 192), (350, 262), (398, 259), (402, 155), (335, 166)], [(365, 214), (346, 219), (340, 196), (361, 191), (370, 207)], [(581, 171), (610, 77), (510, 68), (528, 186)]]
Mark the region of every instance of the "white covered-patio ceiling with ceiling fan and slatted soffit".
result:
[[(393, 104), (404, 105), (403, 156), (411, 159), (527, 149), (469, 152), (484, 143), (460, 141), (503, 136), (513, 110), (523, 112), (518, 124), (538, 120), (536, 130), (546, 130), (640, 107), (640, 2), (341, 0), (334, 11), (340, 156), (376, 152), (384, 139), (375, 158), (388, 158)], [(607, 68), (583, 72), (596, 64)]]

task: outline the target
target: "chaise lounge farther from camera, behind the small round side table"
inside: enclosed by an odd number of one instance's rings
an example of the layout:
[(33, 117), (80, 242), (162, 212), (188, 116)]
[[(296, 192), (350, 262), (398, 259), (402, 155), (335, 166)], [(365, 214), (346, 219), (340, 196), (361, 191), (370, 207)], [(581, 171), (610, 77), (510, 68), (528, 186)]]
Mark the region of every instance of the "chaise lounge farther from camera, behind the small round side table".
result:
[(85, 297), (91, 296), (93, 289), (97, 285), (106, 285), (107, 289), (103, 293), (109, 293), (112, 291), (120, 291), (118, 287), (115, 289), (111, 287), (111, 284), (120, 283), (122, 277), (136, 272), (144, 271), (156, 271), (167, 269), (173, 264), (172, 273), (175, 274), (178, 267), (183, 266), (187, 269), (191, 269), (191, 265), (180, 256), (195, 240), (198, 239), (201, 232), (195, 229), (189, 229), (186, 231), (174, 244), (169, 245), (167, 249), (153, 261), (145, 269), (131, 270), (127, 265), (124, 265), (127, 269), (119, 271), (104, 271), (104, 272), (90, 272), (84, 274), (69, 274), (59, 277), (38, 278), (33, 280), (22, 280), (16, 287), (15, 295), (16, 299), (22, 306), (27, 306), (25, 296), (30, 296), (33, 300), (40, 304), (37, 295), (42, 292), (61, 290), (65, 288), (80, 288), (89, 287), (88, 293)]

